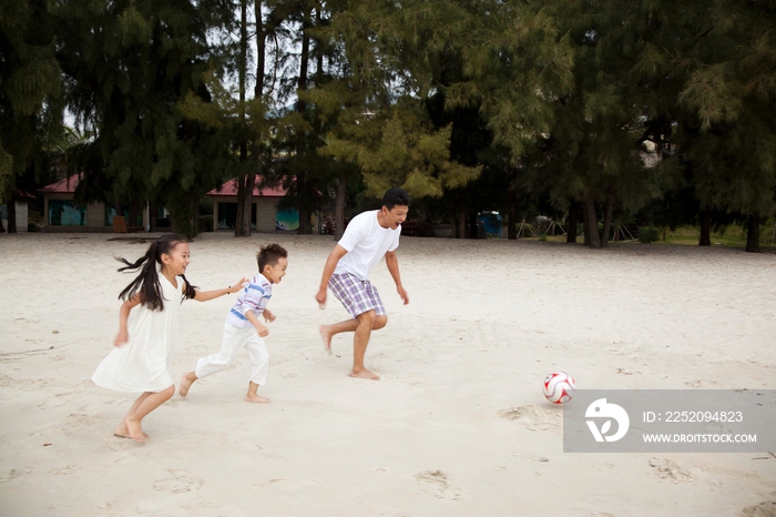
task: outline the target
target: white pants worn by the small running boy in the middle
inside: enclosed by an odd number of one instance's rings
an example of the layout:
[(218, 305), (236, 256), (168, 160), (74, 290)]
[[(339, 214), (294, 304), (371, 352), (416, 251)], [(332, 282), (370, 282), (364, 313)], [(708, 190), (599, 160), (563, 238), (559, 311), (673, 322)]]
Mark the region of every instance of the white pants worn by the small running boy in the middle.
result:
[(194, 373), (202, 378), (228, 368), (237, 352), (243, 347), (245, 347), (248, 357), (251, 357), (251, 382), (265, 385), (267, 372), (269, 371), (269, 353), (264, 344), (264, 339), (258, 336), (256, 328), (253, 326), (239, 328), (229, 322), (224, 323), (224, 338), (221, 342), (221, 352), (197, 361)]

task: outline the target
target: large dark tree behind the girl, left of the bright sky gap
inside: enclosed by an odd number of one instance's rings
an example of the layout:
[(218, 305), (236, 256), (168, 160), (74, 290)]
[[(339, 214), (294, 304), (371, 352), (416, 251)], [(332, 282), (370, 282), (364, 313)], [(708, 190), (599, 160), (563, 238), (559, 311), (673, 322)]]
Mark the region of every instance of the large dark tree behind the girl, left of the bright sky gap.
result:
[(198, 200), (223, 175), (227, 150), (178, 102), (208, 93), (207, 33), (227, 23), (222, 0), (73, 0), (58, 4), (58, 51), (70, 108), (95, 138), (74, 153), (84, 172), (76, 195), (139, 211), (164, 204), (173, 227), (198, 232)]

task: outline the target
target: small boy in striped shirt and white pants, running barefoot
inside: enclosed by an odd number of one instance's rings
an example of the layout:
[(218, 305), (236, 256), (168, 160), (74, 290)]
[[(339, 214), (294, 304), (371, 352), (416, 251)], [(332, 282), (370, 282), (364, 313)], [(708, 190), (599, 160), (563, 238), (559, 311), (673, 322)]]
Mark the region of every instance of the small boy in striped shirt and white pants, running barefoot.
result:
[(279, 244), (268, 244), (262, 246), (256, 254), (256, 261), (258, 262), (258, 274), (251, 278), (251, 283), (242, 290), (234, 306), (226, 315), (221, 352), (202, 357), (196, 362), (194, 372), (188, 372), (183, 376), (178, 391), (182, 397), (188, 394), (188, 389), (197, 378), (227, 368), (237, 352), (245, 347), (251, 357), (251, 382), (245, 402), (269, 402), (268, 398), (256, 395), (258, 386), (266, 384), (267, 371), (269, 369), (269, 354), (264, 344), (264, 337), (269, 334), (269, 331), (258, 321), (258, 316), (264, 316), (265, 322), (275, 321), (275, 315), (266, 306), (272, 297), (273, 284), (279, 283), (286, 275), (288, 252)]

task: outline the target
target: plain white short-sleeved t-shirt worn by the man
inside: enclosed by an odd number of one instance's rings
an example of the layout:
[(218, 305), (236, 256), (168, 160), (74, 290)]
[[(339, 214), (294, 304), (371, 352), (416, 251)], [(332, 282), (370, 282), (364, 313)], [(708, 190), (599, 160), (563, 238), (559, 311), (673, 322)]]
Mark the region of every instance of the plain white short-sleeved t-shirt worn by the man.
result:
[(401, 225), (396, 230), (380, 226), (378, 210), (363, 212), (350, 221), (339, 245), (347, 250), (334, 270), (334, 274), (351, 273), (360, 280), (368, 280), (371, 271), (386, 252), (399, 247)]

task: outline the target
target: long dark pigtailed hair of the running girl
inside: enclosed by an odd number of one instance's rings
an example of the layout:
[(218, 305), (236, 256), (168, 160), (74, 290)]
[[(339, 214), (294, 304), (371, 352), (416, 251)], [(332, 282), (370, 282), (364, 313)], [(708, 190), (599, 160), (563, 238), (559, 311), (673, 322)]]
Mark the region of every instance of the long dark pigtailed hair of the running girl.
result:
[[(151, 243), (151, 246), (149, 246), (145, 255), (137, 258), (134, 264), (130, 263), (124, 257), (115, 256), (114, 258), (116, 261), (126, 264), (124, 267), (119, 267), (116, 271), (132, 272), (141, 270), (137, 277), (130, 282), (130, 285), (124, 287), (124, 291), (121, 292), (119, 298), (126, 301), (140, 293), (140, 302), (143, 305), (152, 311), (164, 311), (164, 296), (162, 295), (162, 285), (159, 283), (156, 264), (161, 266), (162, 255), (170, 255), (173, 249), (182, 242), (186, 242), (186, 240), (180, 235), (172, 233), (162, 235)], [(184, 284), (183, 297), (181, 298), (181, 302), (183, 302), (185, 298), (193, 298), (196, 295), (196, 287), (190, 284), (184, 275), (180, 276), (183, 278)]]

